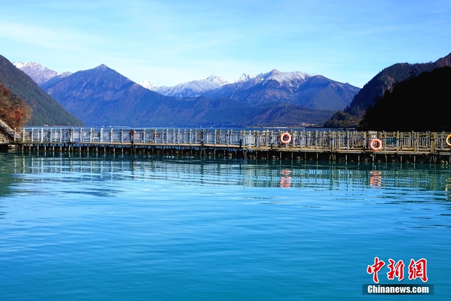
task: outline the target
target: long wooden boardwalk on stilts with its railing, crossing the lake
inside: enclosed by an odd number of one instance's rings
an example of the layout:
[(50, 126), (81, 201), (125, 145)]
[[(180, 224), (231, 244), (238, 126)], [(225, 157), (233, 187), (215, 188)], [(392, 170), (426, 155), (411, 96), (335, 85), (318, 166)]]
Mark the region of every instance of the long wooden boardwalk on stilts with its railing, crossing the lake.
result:
[[(288, 131), (291, 141), (280, 142), (280, 131), (212, 129), (22, 128), (12, 130), (9, 143), (23, 150), (170, 152), (237, 155), (256, 158), (329, 160), (451, 160), (449, 133)], [(380, 151), (370, 141), (382, 141)], [(382, 158), (382, 159), (381, 159)], [(395, 159), (393, 159), (395, 158)], [(409, 159), (410, 158), (410, 159)]]

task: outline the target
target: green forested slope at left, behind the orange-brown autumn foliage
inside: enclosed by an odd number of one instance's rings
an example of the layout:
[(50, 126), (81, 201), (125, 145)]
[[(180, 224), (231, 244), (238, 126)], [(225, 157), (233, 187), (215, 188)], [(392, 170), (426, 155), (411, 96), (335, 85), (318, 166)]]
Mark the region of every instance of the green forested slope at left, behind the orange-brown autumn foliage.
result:
[(44, 92), (24, 72), (0, 55), (0, 83), (8, 86), (13, 93), (24, 99), (32, 108), (29, 126), (80, 126), (79, 119), (64, 110), (63, 106)]

